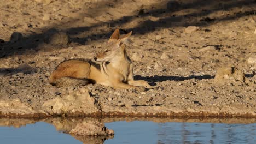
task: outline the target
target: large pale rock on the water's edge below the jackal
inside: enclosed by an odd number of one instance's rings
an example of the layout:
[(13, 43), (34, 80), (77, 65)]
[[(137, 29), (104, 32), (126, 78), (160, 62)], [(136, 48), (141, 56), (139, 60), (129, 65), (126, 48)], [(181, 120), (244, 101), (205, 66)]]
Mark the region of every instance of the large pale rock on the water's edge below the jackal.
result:
[(95, 99), (90, 96), (86, 88), (45, 101), (41, 109), (51, 115), (65, 114), (67, 116), (96, 115), (100, 110)]

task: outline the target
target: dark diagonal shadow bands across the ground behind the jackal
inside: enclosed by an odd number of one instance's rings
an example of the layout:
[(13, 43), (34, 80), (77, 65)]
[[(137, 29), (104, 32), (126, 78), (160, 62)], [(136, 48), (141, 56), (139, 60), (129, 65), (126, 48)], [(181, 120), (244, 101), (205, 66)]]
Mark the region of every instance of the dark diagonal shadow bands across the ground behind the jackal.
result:
[[(122, 1), (123, 2), (123, 1)], [(83, 16), (95, 17), (100, 15), (103, 11), (108, 13), (109, 8), (117, 8), (122, 2), (98, 2), (100, 5), (98, 10), (96, 7), (89, 10), (84, 10)], [(98, 22), (92, 26), (80, 26), (73, 27), (68, 29), (62, 29), (69, 37), (69, 43), (65, 46), (63, 45), (54, 45), (55, 49), (72, 46), (74, 44), (84, 45), (88, 39), (90, 40), (100, 40), (106, 39), (110, 36), (110, 31), (108, 29), (121, 28), (122, 25), (129, 23), (136, 19), (145, 18), (148, 16), (154, 16), (157, 18), (156, 21), (150, 19), (142, 19), (142, 22), (138, 26), (132, 26), (127, 31), (132, 30), (135, 34), (146, 34), (148, 32), (155, 31), (158, 28), (172, 28), (177, 26), (206, 26), (211, 25), (216, 22), (238, 19), (247, 15), (255, 15), (256, 1), (253, 0), (241, 0), (241, 1), (164, 1), (166, 3), (163, 8), (154, 8), (154, 5), (144, 8), (142, 5), (140, 8), (133, 11), (134, 15), (123, 16), (120, 19), (113, 19), (107, 22)], [(97, 2), (95, 2), (97, 3)], [(161, 2), (159, 2), (161, 3)], [(128, 7), (128, 6), (127, 6)], [(220, 15), (218, 17), (208, 17), (208, 15), (216, 13), (220, 10), (223, 11), (232, 11), (235, 8), (243, 8), (243, 10), (238, 13), (229, 13)], [(251, 8), (251, 9), (248, 9)], [(89, 12), (88, 12), (89, 11)], [(72, 25), (72, 22), (69, 22)], [(67, 25), (68, 23), (59, 23), (59, 25)], [(101, 28), (107, 26), (107, 30), (102, 30), (97, 34), (85, 34), (82, 36), (77, 36), (80, 33), (90, 32), (93, 29)], [(54, 31), (53, 31), (54, 29)], [(46, 28), (46, 31), (40, 34), (32, 34), (28, 37), (15, 38), (10, 41), (0, 40), (0, 58), (8, 57), (11, 55), (22, 55), (25, 53), (37, 53), (39, 50), (45, 49), (45, 47), (53, 47), (50, 45), (42, 46), (45, 43), (45, 39), (48, 39), (50, 35), (59, 32), (56, 26), (49, 26)], [(19, 35), (19, 34), (18, 34)], [(49, 50), (49, 49), (48, 49)], [(47, 51), (47, 49), (46, 49)], [(50, 49), (51, 51), (51, 49)]]

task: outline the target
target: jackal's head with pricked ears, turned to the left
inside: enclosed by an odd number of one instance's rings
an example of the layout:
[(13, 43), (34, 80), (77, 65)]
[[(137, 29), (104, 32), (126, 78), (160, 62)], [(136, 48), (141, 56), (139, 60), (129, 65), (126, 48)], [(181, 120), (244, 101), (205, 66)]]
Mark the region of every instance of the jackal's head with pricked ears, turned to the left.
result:
[(126, 58), (126, 40), (130, 37), (132, 31), (125, 35), (120, 35), (119, 29), (115, 29), (111, 35), (108, 43), (102, 48), (100, 52), (97, 53), (94, 60), (96, 62), (113, 62), (121, 58)]

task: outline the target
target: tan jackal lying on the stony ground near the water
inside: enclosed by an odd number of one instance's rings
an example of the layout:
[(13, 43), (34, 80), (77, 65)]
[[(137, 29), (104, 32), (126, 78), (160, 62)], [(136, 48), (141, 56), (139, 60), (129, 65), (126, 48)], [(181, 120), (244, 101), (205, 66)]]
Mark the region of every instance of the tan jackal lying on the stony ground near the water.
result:
[[(116, 29), (106, 47), (92, 61), (62, 62), (50, 75), (49, 83), (57, 87), (99, 83), (114, 88), (152, 88), (144, 80), (133, 80), (133, 64), (126, 55), (125, 41), (132, 32), (120, 35)], [(97, 67), (98, 66), (98, 67)]]

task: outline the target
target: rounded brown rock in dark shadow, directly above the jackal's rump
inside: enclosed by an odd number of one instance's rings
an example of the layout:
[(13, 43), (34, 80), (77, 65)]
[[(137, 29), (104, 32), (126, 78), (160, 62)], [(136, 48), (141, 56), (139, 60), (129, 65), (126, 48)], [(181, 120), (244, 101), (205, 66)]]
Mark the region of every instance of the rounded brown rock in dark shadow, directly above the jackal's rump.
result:
[(44, 41), (51, 45), (67, 45), (69, 37), (65, 32), (50, 32)]

